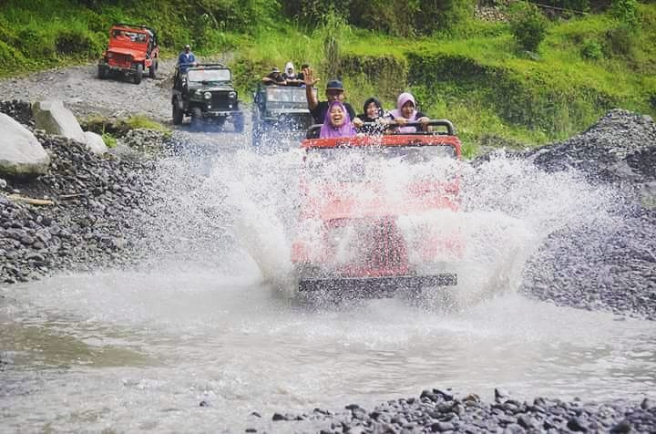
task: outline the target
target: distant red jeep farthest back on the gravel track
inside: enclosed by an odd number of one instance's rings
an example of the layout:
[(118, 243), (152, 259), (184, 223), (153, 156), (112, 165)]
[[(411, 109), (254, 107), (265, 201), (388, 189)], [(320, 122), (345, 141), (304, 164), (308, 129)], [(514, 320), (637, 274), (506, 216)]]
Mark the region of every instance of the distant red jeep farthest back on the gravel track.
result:
[(109, 30), (109, 46), (98, 62), (98, 78), (110, 73), (131, 76), (141, 83), (144, 70), (155, 78), (159, 62), (159, 46), (155, 30), (147, 26), (115, 24)]

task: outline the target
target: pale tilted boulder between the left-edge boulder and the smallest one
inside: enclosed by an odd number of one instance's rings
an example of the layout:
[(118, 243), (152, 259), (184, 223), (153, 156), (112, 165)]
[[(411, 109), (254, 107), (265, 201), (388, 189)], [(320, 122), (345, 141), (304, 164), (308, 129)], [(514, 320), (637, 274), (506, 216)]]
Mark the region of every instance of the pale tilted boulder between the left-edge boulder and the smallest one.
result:
[(37, 101), (32, 105), (32, 113), (37, 129), (86, 143), (82, 127), (73, 112), (64, 107), (63, 102), (56, 99)]

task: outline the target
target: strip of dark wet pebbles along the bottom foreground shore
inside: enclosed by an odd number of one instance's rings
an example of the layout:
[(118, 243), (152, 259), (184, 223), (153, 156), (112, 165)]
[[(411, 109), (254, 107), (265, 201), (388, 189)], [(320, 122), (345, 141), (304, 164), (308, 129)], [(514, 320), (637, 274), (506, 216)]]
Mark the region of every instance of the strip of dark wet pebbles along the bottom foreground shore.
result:
[[(333, 414), (315, 408), (311, 414), (272, 416), (273, 428), (282, 421), (312, 423), (307, 432), (332, 433), (421, 433), (421, 432), (652, 432), (656, 406), (648, 399), (641, 404), (616, 401), (606, 404), (565, 402), (535, 398), (519, 402), (495, 390), (493, 403), (477, 395), (455, 398), (439, 389), (425, 390), (419, 398), (385, 402), (369, 411), (351, 404)], [(301, 422), (307, 421), (307, 422)], [(256, 432), (251, 430), (251, 432)], [(298, 431), (297, 431), (298, 432)], [(304, 431), (303, 431), (304, 432)]]

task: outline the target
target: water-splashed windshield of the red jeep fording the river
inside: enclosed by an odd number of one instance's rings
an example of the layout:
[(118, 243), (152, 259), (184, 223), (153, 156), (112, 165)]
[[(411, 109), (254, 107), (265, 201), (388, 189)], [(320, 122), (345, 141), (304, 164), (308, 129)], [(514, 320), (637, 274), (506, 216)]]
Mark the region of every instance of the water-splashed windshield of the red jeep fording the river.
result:
[(446, 181), (457, 162), (450, 145), (310, 148), (305, 156), (306, 170), (319, 181), (380, 181), (400, 173), (408, 182)]

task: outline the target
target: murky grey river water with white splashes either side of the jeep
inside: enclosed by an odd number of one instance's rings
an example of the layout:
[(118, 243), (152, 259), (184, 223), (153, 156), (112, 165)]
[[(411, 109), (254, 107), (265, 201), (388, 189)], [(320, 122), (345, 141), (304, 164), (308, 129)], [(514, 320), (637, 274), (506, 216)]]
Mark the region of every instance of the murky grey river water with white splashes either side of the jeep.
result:
[(460, 310), (296, 305), (281, 286), (298, 154), (236, 148), (162, 163), (169, 200), (148, 222), (144, 266), (2, 288), (0, 431), (277, 431), (273, 412), (429, 387), (656, 398), (656, 324), (517, 294), (549, 232), (612, 224), (612, 191), (502, 155), (467, 166)]

